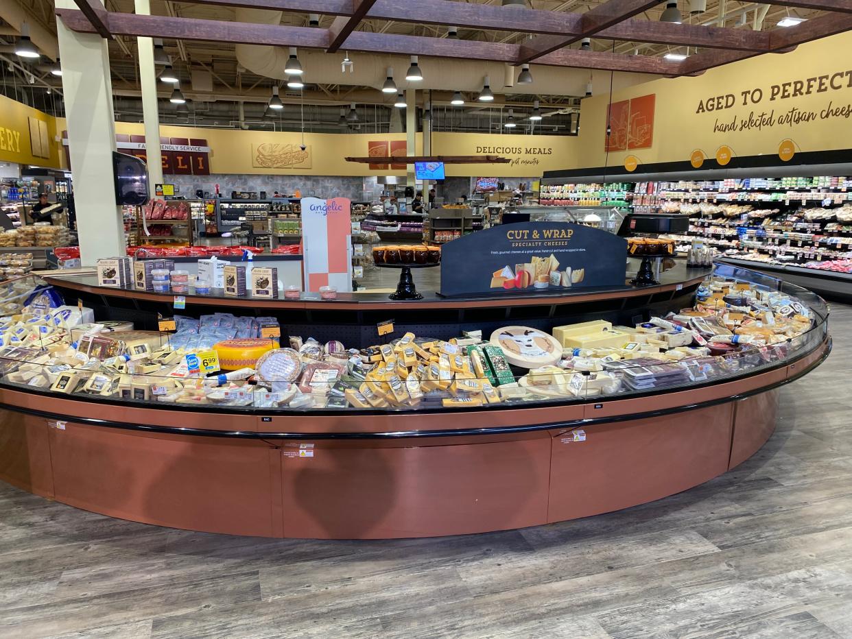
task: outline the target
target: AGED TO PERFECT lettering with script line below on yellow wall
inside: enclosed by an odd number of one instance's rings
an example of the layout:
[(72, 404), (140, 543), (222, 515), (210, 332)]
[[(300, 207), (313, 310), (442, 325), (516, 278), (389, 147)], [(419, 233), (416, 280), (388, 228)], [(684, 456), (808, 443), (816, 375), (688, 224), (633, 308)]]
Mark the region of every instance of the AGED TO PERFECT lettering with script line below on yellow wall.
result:
[[(752, 87), (739, 92), (708, 95), (695, 107), (696, 114), (725, 112), (736, 107), (749, 109), (721, 115), (713, 123), (714, 133), (733, 133), (782, 127), (789, 129), (816, 120), (852, 118), (852, 69), (838, 70), (810, 78), (794, 78), (767, 87)], [(842, 92), (838, 94), (838, 92)], [(826, 94), (825, 101), (808, 107), (790, 106), (796, 98)]]

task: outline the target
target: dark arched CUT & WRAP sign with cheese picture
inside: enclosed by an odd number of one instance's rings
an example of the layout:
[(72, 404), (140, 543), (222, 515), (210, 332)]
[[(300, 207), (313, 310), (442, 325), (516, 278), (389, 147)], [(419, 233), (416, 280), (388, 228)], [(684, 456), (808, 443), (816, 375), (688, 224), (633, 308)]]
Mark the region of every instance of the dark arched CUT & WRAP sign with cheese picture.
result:
[(570, 222), (520, 222), (441, 249), (440, 294), (547, 295), (625, 286), (627, 240)]

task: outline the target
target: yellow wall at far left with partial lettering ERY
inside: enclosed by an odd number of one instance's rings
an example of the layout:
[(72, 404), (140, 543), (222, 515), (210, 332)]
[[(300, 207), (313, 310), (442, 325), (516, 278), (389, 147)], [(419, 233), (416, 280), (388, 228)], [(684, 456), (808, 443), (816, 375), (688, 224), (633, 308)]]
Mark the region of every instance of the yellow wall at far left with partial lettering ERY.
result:
[[(46, 157), (32, 154), (30, 118), (47, 124)], [(60, 143), (55, 141), (55, 137), (55, 118), (0, 95), (0, 160), (59, 169)]]

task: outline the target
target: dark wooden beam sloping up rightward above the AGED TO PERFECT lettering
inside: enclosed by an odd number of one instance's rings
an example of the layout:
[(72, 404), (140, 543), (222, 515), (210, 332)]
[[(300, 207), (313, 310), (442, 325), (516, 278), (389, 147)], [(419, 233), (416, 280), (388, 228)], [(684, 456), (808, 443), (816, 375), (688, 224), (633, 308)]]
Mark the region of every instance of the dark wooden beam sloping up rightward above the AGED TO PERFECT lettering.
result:
[[(820, 15), (819, 18), (807, 20), (800, 25), (778, 28), (769, 32), (769, 50), (776, 53), (789, 52), (799, 44), (847, 32), (850, 29), (852, 29), (852, 14)], [(757, 54), (745, 51), (702, 51), (689, 56), (682, 65), (685, 72), (699, 73), (716, 66), (746, 60), (754, 55)]]

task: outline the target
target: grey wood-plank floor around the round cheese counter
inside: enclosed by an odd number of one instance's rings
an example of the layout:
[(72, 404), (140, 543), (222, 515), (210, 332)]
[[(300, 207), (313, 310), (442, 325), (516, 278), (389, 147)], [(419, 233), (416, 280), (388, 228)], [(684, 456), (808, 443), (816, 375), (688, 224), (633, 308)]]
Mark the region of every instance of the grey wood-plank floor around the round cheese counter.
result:
[(704, 486), (508, 533), (189, 533), (0, 483), (0, 637), (852, 637), (852, 307), (763, 449)]

